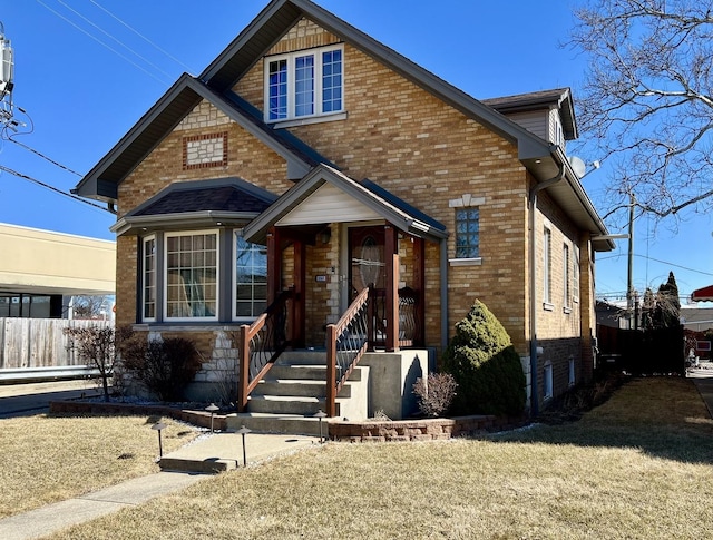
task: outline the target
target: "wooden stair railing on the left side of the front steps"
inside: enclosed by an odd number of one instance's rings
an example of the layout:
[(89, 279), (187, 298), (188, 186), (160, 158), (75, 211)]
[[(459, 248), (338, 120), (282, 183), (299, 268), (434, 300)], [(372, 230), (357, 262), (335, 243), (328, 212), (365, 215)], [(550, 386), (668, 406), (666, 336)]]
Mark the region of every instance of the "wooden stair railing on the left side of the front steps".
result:
[(290, 345), (287, 303), (294, 292), (283, 291), (257, 320), (241, 326), (237, 410), (245, 411), (247, 397), (270, 371), (277, 356)]

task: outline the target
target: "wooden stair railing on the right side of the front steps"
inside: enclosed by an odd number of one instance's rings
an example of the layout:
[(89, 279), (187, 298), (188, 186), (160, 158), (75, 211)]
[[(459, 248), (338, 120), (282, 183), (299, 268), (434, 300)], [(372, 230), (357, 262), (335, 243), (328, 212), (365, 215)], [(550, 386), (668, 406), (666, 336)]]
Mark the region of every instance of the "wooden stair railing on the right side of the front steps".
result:
[(373, 289), (364, 288), (336, 324), (326, 326), (326, 414), (336, 415), (336, 394), (373, 336)]

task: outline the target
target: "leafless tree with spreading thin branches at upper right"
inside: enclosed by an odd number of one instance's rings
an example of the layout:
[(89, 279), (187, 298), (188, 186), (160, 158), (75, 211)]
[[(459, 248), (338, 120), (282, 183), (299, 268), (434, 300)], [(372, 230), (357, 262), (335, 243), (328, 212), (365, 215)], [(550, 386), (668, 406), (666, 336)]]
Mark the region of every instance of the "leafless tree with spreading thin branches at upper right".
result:
[(569, 45), (587, 151), (613, 164), (605, 217), (713, 209), (713, 0), (585, 0)]

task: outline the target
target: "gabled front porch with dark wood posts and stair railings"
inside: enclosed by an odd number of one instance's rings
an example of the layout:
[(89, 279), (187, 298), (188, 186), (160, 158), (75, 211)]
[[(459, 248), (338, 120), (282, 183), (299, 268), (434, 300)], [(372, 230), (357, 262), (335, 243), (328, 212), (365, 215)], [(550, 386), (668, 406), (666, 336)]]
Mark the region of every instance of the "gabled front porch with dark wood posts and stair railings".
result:
[[(324, 395), (313, 391), (305, 396), (313, 404), (296, 406), (296, 413), (306, 415), (311, 406), (310, 414), (322, 410), (329, 416), (344, 416), (339, 400), (359, 386), (350, 382), (356, 370), (369, 372), (371, 361), (365, 362), (365, 355), (391, 354), (399, 373), (387, 394), (398, 396), (399, 406), (390, 411), (403, 418), (403, 396), (412, 397), (416, 382), (407, 374), (421, 376), (429, 371), (423, 348), (426, 245), (442, 246), (446, 228), (377, 185), (321, 165), (251, 222), (243, 236), (266, 246), (268, 307), (253, 324), (241, 327), (238, 411), (254, 412), (251, 401), (257, 400), (251, 395), (264, 386), (285, 351), (311, 348), (323, 350), (319, 364)], [(431, 294), (438, 297), (440, 292)], [(407, 351), (410, 347), (420, 353)], [(410, 370), (411, 364), (418, 367)], [(375, 384), (364, 387), (368, 395), (375, 395)], [(367, 405), (350, 413), (360, 416), (354, 420), (375, 412), (372, 397), (362, 401), (370, 400), (371, 410)], [(281, 401), (286, 400), (273, 400)]]

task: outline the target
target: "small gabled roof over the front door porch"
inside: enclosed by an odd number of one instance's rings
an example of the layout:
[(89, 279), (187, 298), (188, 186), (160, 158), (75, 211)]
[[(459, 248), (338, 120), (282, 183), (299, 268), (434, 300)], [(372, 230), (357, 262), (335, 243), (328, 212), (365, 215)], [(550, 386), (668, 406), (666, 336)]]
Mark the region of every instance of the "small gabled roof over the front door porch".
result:
[[(270, 227), (276, 225), (301, 205), (306, 204), (310, 196), (325, 184), (342, 192), (346, 197), (368, 209), (371, 217), (383, 218), (399, 230), (432, 242), (448, 237), (445, 225), (413, 208), (395, 195), (372, 181), (359, 183), (324, 164), (318, 165), (270, 208), (251, 222), (243, 229), (243, 236), (248, 242), (264, 240)], [(352, 220), (339, 208), (322, 213), (320, 218), (322, 224)]]

